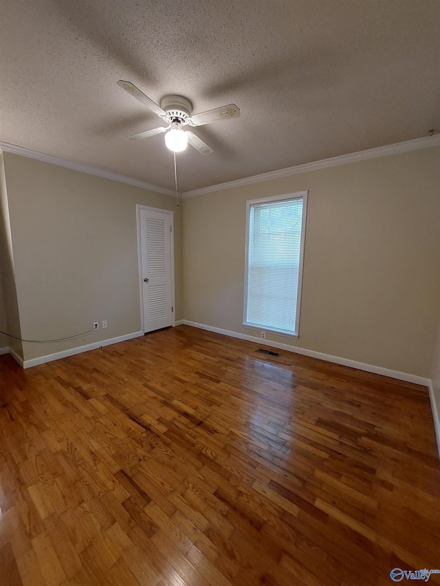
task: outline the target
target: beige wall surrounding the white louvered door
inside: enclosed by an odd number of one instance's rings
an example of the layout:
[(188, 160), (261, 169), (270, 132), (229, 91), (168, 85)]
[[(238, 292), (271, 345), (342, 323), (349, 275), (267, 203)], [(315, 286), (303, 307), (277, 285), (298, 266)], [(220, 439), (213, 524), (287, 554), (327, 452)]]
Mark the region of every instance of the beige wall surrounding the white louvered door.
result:
[(181, 317), (181, 208), (164, 194), (4, 153), (25, 360), (141, 330), (136, 204), (173, 210), (176, 319)]

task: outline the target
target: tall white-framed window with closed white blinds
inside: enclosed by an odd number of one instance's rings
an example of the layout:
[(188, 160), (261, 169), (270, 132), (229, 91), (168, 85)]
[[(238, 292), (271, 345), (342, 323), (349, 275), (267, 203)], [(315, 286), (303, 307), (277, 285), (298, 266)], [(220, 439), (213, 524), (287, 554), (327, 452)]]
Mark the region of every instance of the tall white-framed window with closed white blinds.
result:
[(307, 191), (247, 202), (244, 326), (298, 337)]

